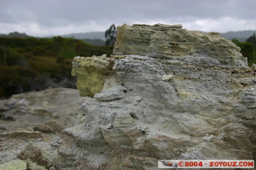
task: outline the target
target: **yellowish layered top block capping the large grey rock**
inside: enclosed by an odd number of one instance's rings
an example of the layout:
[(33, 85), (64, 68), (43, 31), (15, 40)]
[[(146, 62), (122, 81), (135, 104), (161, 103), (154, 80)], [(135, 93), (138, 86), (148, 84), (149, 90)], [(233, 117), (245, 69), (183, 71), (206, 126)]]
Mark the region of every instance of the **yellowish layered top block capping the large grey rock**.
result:
[(113, 54), (179, 59), (186, 63), (208, 67), (224, 66), (228, 63), (246, 67), (246, 59), (241, 55), (241, 49), (222, 38), (220, 33), (204, 34), (181, 27), (181, 25), (174, 27), (163, 24), (118, 26)]

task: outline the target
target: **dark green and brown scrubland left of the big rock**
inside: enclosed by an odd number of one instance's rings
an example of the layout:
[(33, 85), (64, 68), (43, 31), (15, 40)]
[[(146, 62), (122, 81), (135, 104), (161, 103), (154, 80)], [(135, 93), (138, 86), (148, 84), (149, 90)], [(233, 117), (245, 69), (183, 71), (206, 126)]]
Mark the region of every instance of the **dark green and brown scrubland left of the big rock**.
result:
[(110, 56), (112, 51), (112, 46), (95, 47), (60, 36), (0, 37), (0, 97), (48, 87), (76, 88), (71, 76), (74, 56)]

